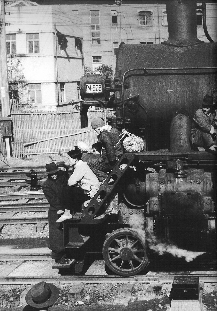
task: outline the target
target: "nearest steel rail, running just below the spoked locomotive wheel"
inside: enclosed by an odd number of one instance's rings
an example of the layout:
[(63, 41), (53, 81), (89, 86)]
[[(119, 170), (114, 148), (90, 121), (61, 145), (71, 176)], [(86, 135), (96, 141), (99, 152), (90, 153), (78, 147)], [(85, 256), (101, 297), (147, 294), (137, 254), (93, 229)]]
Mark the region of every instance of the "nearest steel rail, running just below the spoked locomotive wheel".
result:
[(150, 282), (163, 282), (163, 283), (172, 283), (174, 277), (178, 276), (199, 276), (201, 282), (205, 283), (216, 283), (217, 276), (213, 274), (183, 274), (174, 273), (174, 274), (164, 274), (164, 275), (157, 275), (157, 274), (149, 274), (145, 276), (102, 276), (102, 275), (95, 275), (95, 276), (0, 276), (0, 284), (1, 285), (9, 285), (9, 284), (33, 284), (39, 283), (41, 281), (44, 282), (60, 282), (60, 283), (72, 283), (72, 282), (79, 282), (79, 283), (150, 283)]

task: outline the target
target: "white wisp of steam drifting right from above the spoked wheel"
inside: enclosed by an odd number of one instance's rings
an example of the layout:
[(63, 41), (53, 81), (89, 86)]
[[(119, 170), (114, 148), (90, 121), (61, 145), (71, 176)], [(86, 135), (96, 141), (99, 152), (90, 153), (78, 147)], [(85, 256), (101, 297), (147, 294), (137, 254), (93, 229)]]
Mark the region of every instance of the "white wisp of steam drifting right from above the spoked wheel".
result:
[[(153, 249), (159, 255), (169, 253), (176, 258), (185, 258), (187, 262), (192, 261), (197, 256), (204, 254), (205, 252), (192, 252), (186, 249), (178, 248), (177, 245), (172, 242), (163, 242), (157, 238), (153, 232), (145, 233), (143, 219), (139, 215), (132, 215), (130, 218), (130, 226), (140, 232), (141, 239), (146, 239), (149, 248)], [(146, 236), (145, 236), (146, 235)]]

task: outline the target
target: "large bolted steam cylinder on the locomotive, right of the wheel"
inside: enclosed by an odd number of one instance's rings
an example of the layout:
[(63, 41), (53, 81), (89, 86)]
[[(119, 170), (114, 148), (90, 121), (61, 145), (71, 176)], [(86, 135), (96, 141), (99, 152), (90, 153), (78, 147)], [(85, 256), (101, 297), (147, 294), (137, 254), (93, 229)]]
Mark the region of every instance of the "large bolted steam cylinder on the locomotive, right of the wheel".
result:
[(211, 173), (203, 169), (188, 171), (185, 178), (177, 178), (164, 169), (147, 174), (145, 191), (149, 197), (149, 215), (202, 216), (214, 213)]

